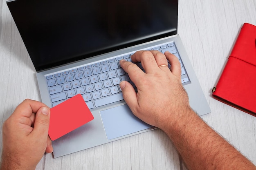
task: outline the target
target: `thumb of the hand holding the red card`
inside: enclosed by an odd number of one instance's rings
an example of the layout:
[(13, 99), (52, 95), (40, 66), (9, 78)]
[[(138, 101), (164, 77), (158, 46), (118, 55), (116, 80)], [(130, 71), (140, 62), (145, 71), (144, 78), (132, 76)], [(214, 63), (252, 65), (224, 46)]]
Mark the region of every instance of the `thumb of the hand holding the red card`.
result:
[[(34, 135), (47, 139), (48, 130), (50, 124), (50, 109), (47, 107), (41, 107), (36, 113), (36, 119), (34, 122), (34, 128), (32, 133)], [(46, 141), (46, 140), (45, 140)]]

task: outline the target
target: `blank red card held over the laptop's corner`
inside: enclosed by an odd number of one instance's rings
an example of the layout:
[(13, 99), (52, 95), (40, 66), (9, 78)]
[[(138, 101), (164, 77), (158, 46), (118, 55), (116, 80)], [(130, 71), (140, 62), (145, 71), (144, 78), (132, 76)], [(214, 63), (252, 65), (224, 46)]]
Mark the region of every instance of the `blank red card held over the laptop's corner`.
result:
[(50, 110), (48, 135), (52, 141), (94, 119), (81, 94), (58, 104)]

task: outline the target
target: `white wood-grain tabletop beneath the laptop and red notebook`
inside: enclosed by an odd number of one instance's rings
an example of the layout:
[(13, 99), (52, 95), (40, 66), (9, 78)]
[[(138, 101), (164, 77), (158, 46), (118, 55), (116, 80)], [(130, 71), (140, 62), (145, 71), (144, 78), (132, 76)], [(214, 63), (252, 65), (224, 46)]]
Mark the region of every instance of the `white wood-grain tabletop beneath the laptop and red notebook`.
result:
[[(7, 8), (0, 0), (0, 128), (26, 98), (39, 100), (34, 66)], [(256, 117), (211, 97), (244, 22), (256, 25), (256, 0), (180, 0), (178, 33), (210, 105), (202, 116), (220, 135), (256, 164)], [(254, 77), (253, 77), (254, 78)], [(256, 94), (252, 94), (256, 95)], [(2, 132), (2, 131), (1, 131)], [(2, 146), (2, 134), (0, 136)], [(2, 152), (2, 147), (0, 149)], [(54, 159), (47, 154), (37, 170), (184, 170), (161, 130)]]

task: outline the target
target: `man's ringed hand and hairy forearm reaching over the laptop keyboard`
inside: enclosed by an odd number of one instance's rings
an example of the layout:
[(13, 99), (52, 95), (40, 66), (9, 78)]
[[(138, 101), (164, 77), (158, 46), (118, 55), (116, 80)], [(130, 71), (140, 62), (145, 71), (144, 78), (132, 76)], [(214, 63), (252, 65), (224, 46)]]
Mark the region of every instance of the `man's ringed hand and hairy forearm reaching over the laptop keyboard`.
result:
[(131, 58), (141, 62), (145, 73), (132, 62), (120, 61), (138, 91), (121, 82), (126, 103), (141, 120), (166, 132), (189, 170), (256, 170), (191, 109), (177, 57), (168, 52), (138, 51)]

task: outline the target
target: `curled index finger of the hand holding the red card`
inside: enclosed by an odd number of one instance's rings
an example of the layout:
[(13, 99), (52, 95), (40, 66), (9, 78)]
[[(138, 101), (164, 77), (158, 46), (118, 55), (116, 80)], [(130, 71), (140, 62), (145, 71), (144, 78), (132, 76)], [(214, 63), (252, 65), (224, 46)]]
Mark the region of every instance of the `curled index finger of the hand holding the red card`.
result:
[(13, 116), (30, 117), (32, 113), (36, 113), (41, 107), (47, 106), (35, 100), (25, 99), (22, 103), (19, 104), (19, 106), (17, 106), (17, 108), (13, 112)]

